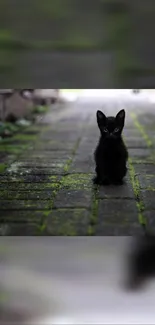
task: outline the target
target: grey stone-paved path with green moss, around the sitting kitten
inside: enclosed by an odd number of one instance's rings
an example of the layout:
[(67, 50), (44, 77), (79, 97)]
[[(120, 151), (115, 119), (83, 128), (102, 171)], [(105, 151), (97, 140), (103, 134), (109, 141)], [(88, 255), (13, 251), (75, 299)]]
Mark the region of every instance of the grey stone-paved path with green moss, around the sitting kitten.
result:
[[(122, 107), (126, 182), (95, 188), (96, 110), (111, 115)], [(155, 109), (147, 100), (57, 104), (36, 126), (0, 143), (0, 153), (1, 235), (137, 235), (143, 222), (155, 228)]]

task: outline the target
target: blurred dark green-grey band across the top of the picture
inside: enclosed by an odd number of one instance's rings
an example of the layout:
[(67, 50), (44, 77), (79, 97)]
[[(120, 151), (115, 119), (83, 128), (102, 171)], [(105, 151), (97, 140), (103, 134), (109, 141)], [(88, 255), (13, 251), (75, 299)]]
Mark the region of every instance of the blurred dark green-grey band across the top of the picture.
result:
[(153, 0), (1, 0), (3, 87), (152, 88)]

